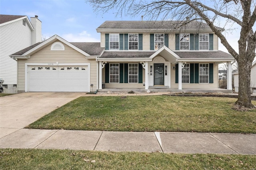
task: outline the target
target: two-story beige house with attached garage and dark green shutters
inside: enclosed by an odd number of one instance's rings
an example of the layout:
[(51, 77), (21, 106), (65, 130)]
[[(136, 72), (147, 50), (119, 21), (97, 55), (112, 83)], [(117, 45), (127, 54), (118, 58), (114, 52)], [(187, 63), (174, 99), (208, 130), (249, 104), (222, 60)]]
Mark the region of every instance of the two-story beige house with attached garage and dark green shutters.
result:
[[(202, 22), (106, 21), (100, 43), (71, 43), (55, 35), (18, 51), (18, 91), (220, 91), (218, 64), (232, 55)], [(221, 30), (221, 28), (219, 28)]]

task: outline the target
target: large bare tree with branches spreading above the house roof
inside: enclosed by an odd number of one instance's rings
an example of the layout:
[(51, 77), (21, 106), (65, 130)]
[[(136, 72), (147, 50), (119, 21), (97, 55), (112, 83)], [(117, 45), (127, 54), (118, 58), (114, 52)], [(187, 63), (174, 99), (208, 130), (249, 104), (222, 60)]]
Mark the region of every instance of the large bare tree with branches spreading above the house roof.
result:
[[(150, 20), (180, 20), (183, 26), (193, 20), (206, 22), (220, 38), (221, 43), (233, 55), (239, 65), (239, 94), (236, 105), (255, 108), (250, 99), (250, 72), (255, 57), (256, 0), (87, 0), (96, 12), (115, 10), (116, 14), (143, 15)], [(225, 20), (226, 24), (240, 27), (239, 53), (228, 43), (214, 24)]]

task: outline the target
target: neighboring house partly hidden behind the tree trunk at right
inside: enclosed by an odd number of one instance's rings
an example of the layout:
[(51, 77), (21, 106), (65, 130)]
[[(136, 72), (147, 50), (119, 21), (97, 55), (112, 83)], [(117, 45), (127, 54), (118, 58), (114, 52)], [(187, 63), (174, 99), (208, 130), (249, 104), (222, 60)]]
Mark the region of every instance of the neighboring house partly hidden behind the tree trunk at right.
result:
[[(232, 73), (234, 75), (234, 88), (235, 92), (239, 90), (239, 70)], [(251, 93), (256, 93), (256, 61), (252, 63), (251, 69)]]

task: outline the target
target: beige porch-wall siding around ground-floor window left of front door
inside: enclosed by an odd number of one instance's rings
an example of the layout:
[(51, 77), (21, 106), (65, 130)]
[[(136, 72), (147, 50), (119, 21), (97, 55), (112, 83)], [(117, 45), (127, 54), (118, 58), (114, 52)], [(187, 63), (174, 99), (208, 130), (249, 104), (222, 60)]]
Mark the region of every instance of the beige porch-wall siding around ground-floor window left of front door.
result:
[[(139, 63), (140, 64), (140, 63)], [(142, 82), (145, 82), (145, 69), (142, 69)], [(102, 84), (105, 88), (124, 88), (124, 89), (145, 89), (143, 83), (105, 83), (105, 67), (102, 69)]]

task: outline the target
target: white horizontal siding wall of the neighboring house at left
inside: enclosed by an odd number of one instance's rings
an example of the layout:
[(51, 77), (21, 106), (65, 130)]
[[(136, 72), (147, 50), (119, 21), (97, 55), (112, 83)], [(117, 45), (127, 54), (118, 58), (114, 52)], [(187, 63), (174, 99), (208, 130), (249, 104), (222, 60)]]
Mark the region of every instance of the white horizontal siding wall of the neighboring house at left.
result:
[(17, 84), (17, 62), (9, 55), (31, 45), (31, 30), (23, 20), (0, 27), (0, 78), (5, 85)]

